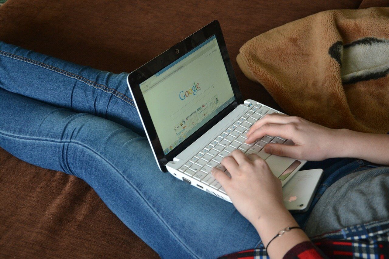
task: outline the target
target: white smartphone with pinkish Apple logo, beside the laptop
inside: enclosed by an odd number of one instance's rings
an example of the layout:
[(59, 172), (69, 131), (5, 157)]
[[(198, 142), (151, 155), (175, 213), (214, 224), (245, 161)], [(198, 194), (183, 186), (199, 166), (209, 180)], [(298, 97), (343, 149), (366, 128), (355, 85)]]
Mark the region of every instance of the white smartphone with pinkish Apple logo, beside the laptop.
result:
[(322, 174), (322, 169), (298, 171), (282, 187), (284, 205), (290, 212), (303, 213), (308, 210)]

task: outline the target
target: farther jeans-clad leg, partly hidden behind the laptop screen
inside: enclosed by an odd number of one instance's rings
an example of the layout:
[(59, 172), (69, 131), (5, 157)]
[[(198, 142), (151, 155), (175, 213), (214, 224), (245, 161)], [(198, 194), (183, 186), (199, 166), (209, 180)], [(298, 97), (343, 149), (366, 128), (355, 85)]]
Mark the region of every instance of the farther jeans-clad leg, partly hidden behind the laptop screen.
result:
[(144, 135), (127, 73), (81, 66), (0, 41), (0, 87), (56, 107), (86, 112)]

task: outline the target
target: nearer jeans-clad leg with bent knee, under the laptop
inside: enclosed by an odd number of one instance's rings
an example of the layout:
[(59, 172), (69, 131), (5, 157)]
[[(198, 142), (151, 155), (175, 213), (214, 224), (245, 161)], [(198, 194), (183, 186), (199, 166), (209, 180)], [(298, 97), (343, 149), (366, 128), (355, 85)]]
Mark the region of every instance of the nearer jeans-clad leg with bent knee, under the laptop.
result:
[(0, 144), (29, 163), (76, 175), (162, 257), (217, 257), (259, 243), (232, 204), (158, 170), (130, 129), (0, 89)]

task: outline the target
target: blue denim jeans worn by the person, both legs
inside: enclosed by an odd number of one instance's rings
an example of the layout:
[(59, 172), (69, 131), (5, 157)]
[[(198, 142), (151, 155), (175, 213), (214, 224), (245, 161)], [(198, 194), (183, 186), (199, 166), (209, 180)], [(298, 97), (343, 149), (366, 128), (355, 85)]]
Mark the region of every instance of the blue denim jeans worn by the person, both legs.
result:
[[(126, 76), (0, 42), (0, 146), (86, 181), (161, 257), (211, 258), (257, 247), (258, 233), (231, 203), (158, 170)], [(358, 163), (329, 166), (315, 199)], [(296, 215), (298, 223), (308, 215)]]

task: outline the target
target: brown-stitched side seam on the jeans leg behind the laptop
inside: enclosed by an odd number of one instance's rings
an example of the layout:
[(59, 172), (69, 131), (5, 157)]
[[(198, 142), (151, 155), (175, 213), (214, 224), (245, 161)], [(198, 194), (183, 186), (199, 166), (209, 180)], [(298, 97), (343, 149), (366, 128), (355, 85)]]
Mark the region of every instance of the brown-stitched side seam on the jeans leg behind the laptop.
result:
[(17, 60), (20, 60), (20, 61), (23, 61), (26, 63), (30, 63), (33, 65), (37, 65), (37, 66), (40, 66), (42, 68), (46, 68), (48, 70), (51, 70), (53, 72), (60, 73), (61, 75), (65, 75), (67, 77), (74, 78), (76, 80), (79, 80), (80, 82), (87, 84), (88, 86), (92, 86), (92, 87), (95, 87), (96, 89), (103, 90), (106, 93), (111, 93), (114, 96), (116, 96), (117, 98), (119, 98), (119, 99), (125, 101), (126, 103), (130, 104), (131, 106), (135, 107), (134, 101), (131, 98), (129, 98), (128, 96), (126, 96), (125, 94), (120, 93), (119, 91), (117, 91), (114, 88), (109, 88), (103, 84), (98, 84), (95, 81), (86, 79), (85, 77), (82, 77), (81, 75), (77, 75), (75, 73), (70, 73), (70, 72), (65, 71), (61, 68), (57, 68), (55, 66), (48, 65), (48, 64), (42, 63), (40, 61), (36, 61), (36, 60), (30, 59), (30, 58), (25, 58), (23, 56), (18, 56), (16, 54), (8, 53), (5, 51), (0, 51), (0, 55), (8, 57), (8, 58), (14, 58), (14, 59), (17, 59)]

